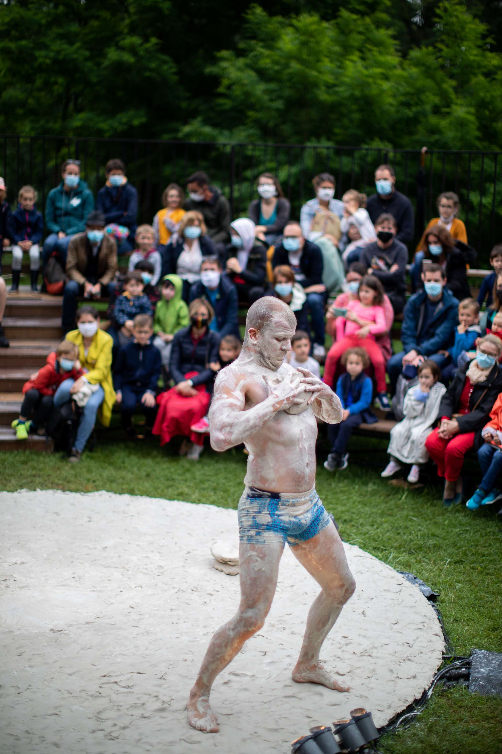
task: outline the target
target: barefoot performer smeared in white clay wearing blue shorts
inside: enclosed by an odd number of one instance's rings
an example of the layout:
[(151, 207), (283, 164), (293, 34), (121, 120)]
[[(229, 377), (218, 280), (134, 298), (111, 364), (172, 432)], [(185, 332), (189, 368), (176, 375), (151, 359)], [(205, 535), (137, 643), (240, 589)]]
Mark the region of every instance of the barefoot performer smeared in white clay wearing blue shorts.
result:
[(285, 363), (296, 324), (280, 299), (259, 299), (248, 311), (239, 358), (221, 370), (214, 385), (211, 446), (222, 451), (244, 443), (249, 456), (238, 511), (241, 602), (211, 639), (187, 701), (188, 722), (204, 733), (219, 729), (209, 706), (214, 679), (263, 627), (286, 541), (321, 587), (292, 677), (348, 691), (321, 666), (319, 652), (355, 582), (342, 541), (315, 492), (315, 417), (336, 424), (342, 421), (342, 406), (312, 372)]

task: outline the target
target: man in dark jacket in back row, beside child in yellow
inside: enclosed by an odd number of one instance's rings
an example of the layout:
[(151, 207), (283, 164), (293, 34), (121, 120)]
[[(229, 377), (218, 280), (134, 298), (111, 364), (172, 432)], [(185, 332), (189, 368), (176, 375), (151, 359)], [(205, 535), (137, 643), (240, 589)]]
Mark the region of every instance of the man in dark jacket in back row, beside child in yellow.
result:
[(230, 240), (230, 220), (232, 211), (227, 198), (220, 189), (209, 185), (207, 173), (197, 170), (187, 178), (188, 198), (184, 202), (185, 210), (196, 210), (204, 217), (207, 234), (216, 245), (218, 253), (223, 252)]

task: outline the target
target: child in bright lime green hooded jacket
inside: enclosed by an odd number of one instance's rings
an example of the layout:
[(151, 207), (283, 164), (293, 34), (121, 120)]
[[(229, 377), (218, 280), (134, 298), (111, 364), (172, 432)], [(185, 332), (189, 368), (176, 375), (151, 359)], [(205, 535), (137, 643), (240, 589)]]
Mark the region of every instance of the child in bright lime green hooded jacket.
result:
[(154, 315), (154, 345), (160, 351), (162, 366), (169, 369), (172, 339), (178, 329), (190, 325), (188, 307), (181, 298), (183, 280), (178, 275), (165, 275), (162, 279), (162, 296)]

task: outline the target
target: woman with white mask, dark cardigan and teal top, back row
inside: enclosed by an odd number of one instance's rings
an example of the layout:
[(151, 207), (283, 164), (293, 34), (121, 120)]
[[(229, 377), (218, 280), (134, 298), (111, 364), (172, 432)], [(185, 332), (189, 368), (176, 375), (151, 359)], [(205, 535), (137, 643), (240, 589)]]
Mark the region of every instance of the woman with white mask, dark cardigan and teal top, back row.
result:
[(272, 173), (261, 173), (257, 179), (259, 199), (248, 207), (248, 216), (254, 222), (254, 234), (267, 244), (275, 244), (289, 220), (291, 204), (284, 199), (281, 184)]

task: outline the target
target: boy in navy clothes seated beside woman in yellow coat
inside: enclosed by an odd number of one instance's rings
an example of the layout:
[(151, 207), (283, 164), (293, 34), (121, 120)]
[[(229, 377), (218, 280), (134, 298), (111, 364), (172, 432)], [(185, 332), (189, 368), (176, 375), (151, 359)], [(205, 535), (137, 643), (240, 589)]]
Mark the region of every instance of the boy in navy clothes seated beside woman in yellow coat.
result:
[(139, 403), (145, 414), (147, 427), (154, 426), (157, 404), (155, 395), (160, 377), (160, 351), (150, 342), (154, 334), (153, 321), (148, 314), (134, 318), (132, 342), (120, 348), (114, 370), (117, 403), (122, 405), (122, 426), (134, 437), (132, 414)]

